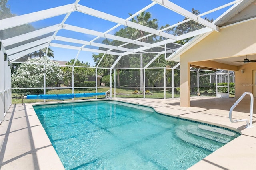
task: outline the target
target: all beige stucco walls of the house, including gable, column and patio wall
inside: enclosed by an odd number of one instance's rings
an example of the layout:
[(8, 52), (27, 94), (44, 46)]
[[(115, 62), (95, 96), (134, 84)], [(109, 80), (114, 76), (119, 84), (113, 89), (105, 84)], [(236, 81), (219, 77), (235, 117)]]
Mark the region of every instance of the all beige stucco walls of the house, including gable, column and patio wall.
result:
[[(182, 75), (180, 79), (181, 106), (190, 106), (190, 102), (188, 102), (190, 100), (190, 94), (188, 92), (188, 89), (190, 89), (190, 83), (188, 83), (190, 74), (187, 73), (188, 68), (184, 67), (189, 67), (190, 63), (194, 64), (200, 61), (206, 61), (201, 62), (201, 66), (209, 67), (210, 65), (213, 68), (236, 71), (236, 98), (240, 97), (244, 91), (252, 92), (252, 87), (246, 84), (252, 84), (252, 70), (256, 69), (255, 63), (244, 64), (241, 67), (232, 67), (230, 65), (218, 65), (216, 62), (207, 61), (256, 54), (255, 30), (256, 20), (248, 20), (247, 22), (221, 28), (220, 32), (212, 32), (180, 56), (180, 74)], [(242, 69), (245, 70), (244, 74), (241, 73)], [(184, 90), (182, 90), (182, 85)]]

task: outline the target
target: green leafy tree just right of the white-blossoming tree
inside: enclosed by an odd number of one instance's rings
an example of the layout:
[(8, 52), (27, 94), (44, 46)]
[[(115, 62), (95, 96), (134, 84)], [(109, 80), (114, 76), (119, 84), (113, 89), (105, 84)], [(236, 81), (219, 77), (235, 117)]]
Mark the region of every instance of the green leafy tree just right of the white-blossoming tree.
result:
[[(73, 65), (75, 59), (71, 59), (66, 65)], [(75, 66), (84, 66), (90, 67), (88, 62), (80, 62), (78, 59), (76, 60)], [(94, 69), (92, 68), (84, 68), (84, 67), (74, 67), (74, 82), (78, 85), (88, 80), (89, 76), (95, 75)], [(72, 67), (62, 67), (62, 71), (64, 73), (64, 84), (70, 85), (72, 82)]]

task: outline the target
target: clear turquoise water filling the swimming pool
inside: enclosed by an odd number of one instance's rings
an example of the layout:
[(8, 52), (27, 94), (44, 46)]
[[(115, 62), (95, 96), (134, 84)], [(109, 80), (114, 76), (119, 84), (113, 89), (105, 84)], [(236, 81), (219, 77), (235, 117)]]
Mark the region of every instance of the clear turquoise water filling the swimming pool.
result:
[(34, 109), (67, 170), (182, 170), (239, 136), (116, 101)]

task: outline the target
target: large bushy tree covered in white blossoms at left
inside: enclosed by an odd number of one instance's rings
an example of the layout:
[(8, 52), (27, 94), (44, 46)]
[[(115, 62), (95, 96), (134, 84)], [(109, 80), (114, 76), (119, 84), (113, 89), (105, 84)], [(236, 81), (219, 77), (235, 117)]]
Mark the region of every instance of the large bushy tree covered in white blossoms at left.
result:
[[(46, 61), (46, 62), (45, 62)], [(62, 79), (62, 70), (58, 63), (49, 58), (32, 58), (27, 63), (22, 64), (15, 73), (12, 73), (12, 88), (36, 88), (44, 87), (44, 65), (46, 73), (46, 87), (56, 86), (58, 81)], [(34, 63), (34, 64), (32, 64)]]

